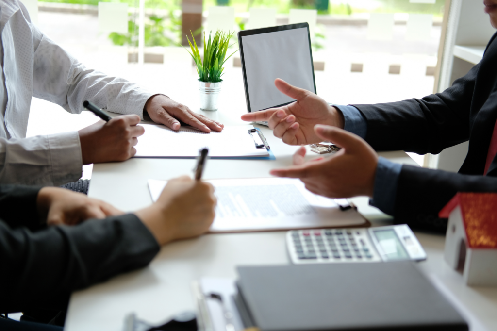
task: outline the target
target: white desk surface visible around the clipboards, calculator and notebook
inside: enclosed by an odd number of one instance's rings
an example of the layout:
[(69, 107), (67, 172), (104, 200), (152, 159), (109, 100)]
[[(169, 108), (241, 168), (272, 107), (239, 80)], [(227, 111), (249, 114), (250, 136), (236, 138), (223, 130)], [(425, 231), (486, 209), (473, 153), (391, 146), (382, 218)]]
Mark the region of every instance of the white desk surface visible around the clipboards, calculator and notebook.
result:
[[(241, 107), (240, 109), (242, 109)], [(226, 108), (225, 108), (226, 109)], [(240, 109), (232, 112), (204, 112), (225, 124), (243, 124)], [(262, 130), (276, 157), (275, 161), (210, 160), (204, 178), (267, 177), (271, 168), (291, 164), (298, 147), (287, 146)], [(415, 164), (404, 152), (381, 155), (404, 164)], [(89, 195), (131, 211), (149, 205), (152, 200), (147, 180), (168, 179), (190, 174), (195, 160), (131, 159), (122, 163), (94, 165)], [(384, 225), (391, 218), (367, 205), (367, 198), (354, 198), (359, 211), (373, 225)], [(471, 322), (471, 330), (497, 330), (497, 288), (470, 288), (462, 276), (443, 261), (443, 236), (416, 234), (428, 254), (420, 262), (421, 270), (433, 283), (461, 307)], [(171, 243), (161, 249), (149, 267), (75, 292), (71, 297), (66, 331), (121, 331), (126, 314), (135, 312), (151, 323), (193, 310), (190, 285), (201, 277), (236, 278), (238, 265), (286, 264), (285, 233), (244, 233), (204, 235), (197, 239)]]

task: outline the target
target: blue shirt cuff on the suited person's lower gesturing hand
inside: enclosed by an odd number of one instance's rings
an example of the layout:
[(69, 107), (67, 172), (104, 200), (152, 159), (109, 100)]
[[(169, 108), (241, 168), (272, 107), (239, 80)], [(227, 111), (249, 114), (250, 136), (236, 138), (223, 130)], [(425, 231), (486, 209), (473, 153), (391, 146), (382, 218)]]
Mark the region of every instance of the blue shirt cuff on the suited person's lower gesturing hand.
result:
[(394, 215), (395, 196), (401, 174), (402, 165), (378, 158), (374, 179), (373, 198), (369, 204), (388, 215)]

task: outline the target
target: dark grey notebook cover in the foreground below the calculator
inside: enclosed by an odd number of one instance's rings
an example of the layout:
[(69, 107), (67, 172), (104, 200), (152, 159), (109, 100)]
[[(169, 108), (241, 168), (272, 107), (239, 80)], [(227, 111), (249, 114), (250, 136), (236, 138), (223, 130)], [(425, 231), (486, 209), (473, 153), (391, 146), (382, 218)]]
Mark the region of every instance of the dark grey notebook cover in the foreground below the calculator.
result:
[(410, 261), (239, 267), (238, 272), (237, 306), (242, 313), (245, 306), (246, 326), (261, 331), (468, 330)]

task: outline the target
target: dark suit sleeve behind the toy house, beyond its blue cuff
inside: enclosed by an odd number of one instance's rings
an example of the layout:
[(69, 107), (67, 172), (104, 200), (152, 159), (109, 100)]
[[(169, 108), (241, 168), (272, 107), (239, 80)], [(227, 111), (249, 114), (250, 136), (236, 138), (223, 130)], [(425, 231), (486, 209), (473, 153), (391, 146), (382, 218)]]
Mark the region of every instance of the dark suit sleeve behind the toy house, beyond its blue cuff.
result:
[(445, 233), (447, 221), (439, 219), (438, 212), (457, 192), (497, 192), (497, 177), (403, 165), (397, 186), (395, 222)]

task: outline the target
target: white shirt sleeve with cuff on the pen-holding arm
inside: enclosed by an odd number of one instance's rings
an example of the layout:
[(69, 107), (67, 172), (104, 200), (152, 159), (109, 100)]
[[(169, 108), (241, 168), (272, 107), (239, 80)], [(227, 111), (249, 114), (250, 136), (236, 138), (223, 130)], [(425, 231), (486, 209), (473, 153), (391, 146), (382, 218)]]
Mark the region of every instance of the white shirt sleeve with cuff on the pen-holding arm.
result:
[(23, 139), (0, 138), (0, 182), (59, 186), (81, 178), (78, 132)]

